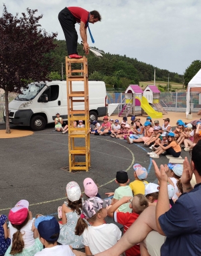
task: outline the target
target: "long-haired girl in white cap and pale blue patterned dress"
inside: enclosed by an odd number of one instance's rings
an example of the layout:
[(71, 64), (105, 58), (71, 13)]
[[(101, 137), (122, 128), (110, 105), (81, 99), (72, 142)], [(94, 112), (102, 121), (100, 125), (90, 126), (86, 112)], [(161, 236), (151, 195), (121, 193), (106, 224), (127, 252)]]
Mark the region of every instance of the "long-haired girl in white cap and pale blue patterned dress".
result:
[(69, 182), (66, 185), (66, 196), (68, 201), (62, 205), (62, 225), (60, 225), (58, 243), (70, 245), (75, 249), (84, 248), (82, 236), (79, 237), (74, 233), (76, 223), (82, 211), (80, 186), (76, 182)]

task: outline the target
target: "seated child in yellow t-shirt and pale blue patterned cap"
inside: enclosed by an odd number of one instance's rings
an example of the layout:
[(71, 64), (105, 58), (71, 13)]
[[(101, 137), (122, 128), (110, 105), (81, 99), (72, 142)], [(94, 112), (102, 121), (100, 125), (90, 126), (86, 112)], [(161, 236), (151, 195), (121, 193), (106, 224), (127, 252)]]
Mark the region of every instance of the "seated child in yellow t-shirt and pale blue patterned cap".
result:
[(145, 186), (148, 182), (145, 180), (147, 178), (147, 170), (140, 164), (134, 164), (134, 182), (129, 184), (134, 196), (136, 194), (145, 194)]

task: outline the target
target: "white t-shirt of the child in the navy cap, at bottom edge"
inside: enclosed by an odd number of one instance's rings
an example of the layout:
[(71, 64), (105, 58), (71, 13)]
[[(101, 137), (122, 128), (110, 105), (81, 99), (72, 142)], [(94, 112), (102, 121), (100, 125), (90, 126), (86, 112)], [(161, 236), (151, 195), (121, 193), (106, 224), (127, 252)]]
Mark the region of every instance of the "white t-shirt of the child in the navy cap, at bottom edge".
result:
[(69, 245), (56, 245), (54, 247), (42, 249), (34, 256), (75, 256)]

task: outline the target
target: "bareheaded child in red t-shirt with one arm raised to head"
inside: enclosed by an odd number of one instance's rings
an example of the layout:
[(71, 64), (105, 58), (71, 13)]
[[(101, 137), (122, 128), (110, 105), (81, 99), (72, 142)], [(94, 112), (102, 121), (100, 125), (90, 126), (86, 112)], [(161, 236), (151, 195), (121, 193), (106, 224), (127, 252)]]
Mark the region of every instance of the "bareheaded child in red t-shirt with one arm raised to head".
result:
[[(132, 208), (132, 212), (115, 212), (122, 204), (125, 204), (127, 202), (130, 202), (129, 206)], [(137, 220), (137, 217), (145, 208), (149, 206), (147, 199), (142, 194), (137, 194), (136, 196), (129, 197), (129, 196), (123, 196), (121, 200), (113, 204), (111, 208), (107, 210), (108, 216), (111, 218), (114, 218), (115, 222), (124, 225), (123, 227), (123, 233), (129, 229), (129, 227)], [(125, 251), (126, 256), (140, 256), (140, 250), (139, 245), (134, 245), (127, 251)]]

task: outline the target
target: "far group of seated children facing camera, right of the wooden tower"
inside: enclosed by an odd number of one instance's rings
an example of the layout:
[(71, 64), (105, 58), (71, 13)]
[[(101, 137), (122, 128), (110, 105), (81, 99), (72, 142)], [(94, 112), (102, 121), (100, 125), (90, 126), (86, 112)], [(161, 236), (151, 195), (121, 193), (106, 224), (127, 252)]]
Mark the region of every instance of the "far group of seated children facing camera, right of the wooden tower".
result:
[(90, 133), (94, 135), (110, 135), (113, 138), (127, 139), (129, 144), (144, 143), (152, 151), (147, 153), (152, 158), (159, 158), (160, 154), (169, 154), (180, 157), (182, 148), (184, 151), (192, 150), (192, 147), (201, 139), (201, 121), (193, 126), (192, 123), (184, 123), (178, 120), (176, 129), (172, 131), (170, 119), (163, 119), (163, 125), (159, 121), (152, 121), (147, 117), (142, 125), (141, 119), (132, 116), (131, 124), (127, 117), (123, 117), (121, 123), (116, 119), (103, 118), (103, 124), (93, 121)]

